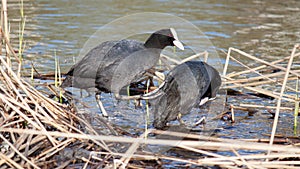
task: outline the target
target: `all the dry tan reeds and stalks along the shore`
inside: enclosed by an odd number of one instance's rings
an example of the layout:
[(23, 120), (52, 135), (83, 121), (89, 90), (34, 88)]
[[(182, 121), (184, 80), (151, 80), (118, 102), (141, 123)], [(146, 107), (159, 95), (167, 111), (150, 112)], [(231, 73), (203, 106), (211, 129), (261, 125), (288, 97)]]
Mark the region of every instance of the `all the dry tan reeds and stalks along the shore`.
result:
[[(105, 124), (101, 115), (93, 115), (99, 125), (107, 130), (122, 131), (107, 135), (95, 129), (84, 114), (72, 104), (62, 104), (59, 61), (55, 73), (55, 86), (43, 84), (47, 91), (37, 90), (28, 78), (21, 75), (23, 32), (26, 23), (22, 1), (19, 47), (9, 41), (7, 2), (2, 0), (1, 53), (0, 57), (0, 168), (144, 168), (159, 167), (167, 162), (189, 166), (219, 166), (222, 168), (298, 168), (300, 165), (300, 138), (297, 133), (299, 112), (299, 45), (290, 56), (267, 62), (241, 50), (229, 48), (223, 70), (222, 90), (246, 90), (277, 99), (276, 106), (250, 104), (230, 105), (230, 111), (249, 109), (271, 109), (274, 112), (273, 129), (269, 139), (223, 139), (181, 132), (145, 130), (139, 136), (127, 135), (117, 126)], [(15, 53), (16, 48), (19, 52)], [(196, 54), (182, 61), (166, 59), (179, 64), (187, 60), (204, 57), (209, 53)], [(250, 67), (242, 63), (250, 59), (260, 66)], [(230, 72), (230, 63), (240, 64), (244, 69)], [(17, 66), (15, 66), (17, 65)], [(34, 68), (33, 68), (34, 69)], [(270, 71), (271, 70), (271, 71)], [(34, 76), (34, 70), (31, 73)], [(39, 76), (41, 77), (41, 76)], [(281, 86), (279, 91), (264, 89), (263, 85)], [(275, 87), (274, 85), (274, 87)], [(289, 91), (289, 92), (287, 92)], [(225, 96), (226, 97), (226, 96)], [(284, 105), (282, 102), (287, 102)], [(294, 111), (294, 137), (276, 135), (281, 110)], [(220, 112), (222, 116), (223, 112)], [(220, 116), (215, 117), (219, 119)], [(234, 120), (233, 120), (234, 121)], [(292, 125), (292, 124), (291, 124)], [(298, 131), (299, 132), (299, 131)], [(125, 134), (124, 134), (125, 133)], [(164, 135), (176, 139), (153, 139), (151, 135)], [(158, 145), (171, 147), (194, 154), (191, 157), (176, 157), (145, 151), (143, 147)], [(117, 149), (116, 147), (122, 147)], [(231, 152), (231, 156), (218, 152)], [(241, 151), (261, 153), (240, 154)], [(167, 161), (167, 162), (166, 162)]]

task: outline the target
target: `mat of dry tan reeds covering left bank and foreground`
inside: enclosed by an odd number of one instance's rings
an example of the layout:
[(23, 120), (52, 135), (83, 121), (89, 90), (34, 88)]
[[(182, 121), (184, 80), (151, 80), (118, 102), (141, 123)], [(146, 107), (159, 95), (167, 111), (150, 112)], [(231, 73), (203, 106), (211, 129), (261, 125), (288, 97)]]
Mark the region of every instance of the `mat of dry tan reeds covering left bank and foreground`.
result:
[[(300, 165), (298, 145), (271, 145), (272, 137), (264, 143), (256, 143), (253, 140), (220, 139), (154, 129), (131, 137), (120, 133), (115, 136), (101, 134), (76, 112), (75, 107), (46, 97), (18, 77), (2, 57), (0, 61), (1, 168), (143, 168), (159, 167), (165, 161), (185, 166), (224, 168), (297, 168)], [(244, 83), (238, 82), (232, 74), (229, 76), (232, 83), (224, 81), (223, 88)], [(266, 78), (270, 77), (273, 76)], [(146, 138), (149, 134), (176, 136), (177, 139)], [(116, 148), (120, 145), (122, 150)], [(197, 155), (179, 158), (153, 153), (144, 149), (149, 145), (167, 146)], [(217, 153), (225, 151), (232, 152), (232, 156)], [(261, 153), (245, 155), (240, 151)]]

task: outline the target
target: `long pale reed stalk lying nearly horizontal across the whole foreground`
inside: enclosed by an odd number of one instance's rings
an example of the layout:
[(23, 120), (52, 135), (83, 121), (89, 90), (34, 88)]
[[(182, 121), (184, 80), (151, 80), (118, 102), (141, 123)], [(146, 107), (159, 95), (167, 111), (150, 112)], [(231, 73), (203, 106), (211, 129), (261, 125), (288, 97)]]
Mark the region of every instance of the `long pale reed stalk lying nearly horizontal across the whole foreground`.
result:
[[(15, 128), (1, 128), (3, 132), (13, 133), (26, 133), (34, 135), (44, 135), (42, 131), (31, 130), (31, 129), (15, 129)], [(230, 150), (234, 149), (245, 149), (245, 150), (261, 150), (267, 151), (269, 149), (267, 144), (264, 143), (249, 143), (239, 140), (229, 140), (227, 142), (206, 142), (206, 141), (185, 141), (185, 140), (163, 140), (163, 139), (140, 139), (140, 138), (127, 138), (120, 136), (106, 136), (106, 135), (90, 135), (90, 134), (78, 134), (78, 133), (63, 133), (56, 131), (48, 131), (48, 134), (53, 137), (65, 137), (65, 138), (76, 138), (83, 140), (95, 139), (98, 141), (106, 142), (119, 142), (119, 143), (135, 143), (139, 144), (154, 144), (154, 145), (167, 145), (167, 146), (190, 146), (208, 150)], [(300, 153), (300, 148), (273, 145), (270, 147), (272, 151), (287, 152), (287, 153)]]

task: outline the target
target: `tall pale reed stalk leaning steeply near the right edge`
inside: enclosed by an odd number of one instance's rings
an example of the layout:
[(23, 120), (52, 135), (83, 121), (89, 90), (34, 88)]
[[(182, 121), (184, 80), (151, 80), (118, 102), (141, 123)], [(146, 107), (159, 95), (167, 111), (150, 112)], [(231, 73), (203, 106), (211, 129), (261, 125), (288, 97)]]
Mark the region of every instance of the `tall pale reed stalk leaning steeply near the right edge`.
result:
[[(297, 48), (299, 48), (299, 44), (296, 44), (294, 46), (293, 51), (291, 53), (291, 57), (290, 57), (289, 62), (287, 64), (286, 74), (284, 76), (283, 85), (282, 85), (280, 95), (279, 95), (280, 97), (277, 100), (277, 107), (276, 107), (276, 112), (275, 112), (275, 117), (274, 117), (274, 122), (273, 122), (272, 134), (271, 134), (270, 146), (269, 147), (271, 147), (273, 145), (273, 141), (274, 141), (274, 137), (275, 137), (275, 133), (276, 133), (276, 128), (277, 128), (277, 123), (278, 123), (278, 118), (279, 118), (280, 107), (281, 107), (281, 99), (282, 99), (283, 93), (285, 91), (285, 86), (286, 86), (286, 83), (287, 83), (287, 80), (288, 80), (288, 77), (289, 77), (289, 74), (290, 74), (290, 69), (292, 67), (294, 56), (295, 56)], [(271, 153), (271, 150), (268, 150), (268, 155), (270, 155), (270, 153)]]

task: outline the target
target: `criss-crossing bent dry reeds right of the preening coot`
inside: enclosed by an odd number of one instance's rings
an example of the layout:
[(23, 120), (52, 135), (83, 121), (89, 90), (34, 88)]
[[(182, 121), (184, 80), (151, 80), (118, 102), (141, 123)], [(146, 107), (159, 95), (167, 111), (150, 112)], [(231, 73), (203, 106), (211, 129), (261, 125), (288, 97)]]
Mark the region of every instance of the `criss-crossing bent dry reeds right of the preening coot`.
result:
[[(226, 57), (226, 62), (224, 65), (224, 70), (223, 70), (223, 77), (225, 78), (225, 82), (223, 83), (225, 86), (223, 86), (223, 88), (244, 88), (250, 91), (254, 91), (257, 93), (261, 93), (267, 96), (271, 96), (273, 98), (277, 99), (277, 106), (276, 106), (276, 113), (275, 113), (275, 119), (274, 119), (274, 125), (272, 128), (272, 136), (271, 138), (274, 138), (275, 135), (275, 131), (277, 128), (277, 121), (278, 121), (278, 117), (279, 117), (279, 111), (281, 110), (281, 100), (286, 100), (289, 101), (291, 103), (295, 103), (295, 112), (298, 112), (298, 108), (297, 108), (297, 95), (298, 95), (298, 89), (295, 90), (295, 87), (291, 87), (291, 86), (287, 86), (287, 83), (293, 82), (296, 80), (296, 85), (298, 85), (298, 78), (300, 76), (299, 74), (299, 70), (291, 70), (291, 67), (293, 65), (293, 60), (296, 57), (300, 56), (300, 53), (296, 53), (296, 51), (299, 50), (299, 45), (296, 44), (292, 50), (292, 53), (290, 56), (287, 56), (283, 59), (277, 60), (277, 61), (273, 61), (273, 62), (267, 62), (264, 61), (262, 59), (259, 59), (257, 57), (251, 56), (241, 50), (235, 49), (235, 48), (229, 48), (228, 53), (227, 53), (227, 57)], [(262, 66), (257, 66), (255, 68), (250, 68), (247, 65), (243, 64), (242, 61), (236, 59), (234, 56), (232, 56), (232, 53), (236, 52), (238, 54), (240, 54), (241, 56), (244, 56), (248, 59), (253, 60), (254, 62), (263, 64)], [(234, 61), (238, 64), (240, 64), (241, 66), (245, 67), (246, 70), (241, 71), (241, 72), (233, 72), (233, 73), (229, 73), (227, 74), (227, 69), (229, 66), (229, 61)], [(279, 66), (277, 64), (282, 63), (283, 61), (288, 60), (287, 63), (287, 67), (282, 67)], [(259, 72), (259, 70), (261, 69), (266, 69), (269, 68), (270, 69), (275, 68), (275, 69), (279, 69), (281, 71), (284, 72), (278, 72), (278, 73), (270, 73), (267, 75), (264, 75), (262, 73)], [(238, 78), (239, 75), (250, 75), (250, 74), (255, 74), (255, 77), (251, 77), (250, 78)], [(284, 78), (281, 77), (281, 75), (285, 75)], [(272, 79), (275, 77), (279, 77), (279, 79)], [(259, 80), (265, 80), (265, 81), (259, 81)], [(274, 92), (274, 91), (269, 91), (266, 89), (263, 89), (262, 87), (260, 87), (261, 85), (265, 85), (265, 84), (272, 84), (275, 83), (277, 85), (281, 86), (281, 91), (280, 93), (278, 92)], [(288, 89), (292, 92), (295, 93), (295, 95), (291, 95), (291, 94), (287, 94), (285, 93), (285, 90)], [(299, 105), (298, 105), (299, 106)], [(296, 113), (294, 113), (294, 133), (296, 133), (297, 130), (297, 116)], [(270, 141), (270, 144), (272, 144), (272, 139)]]

